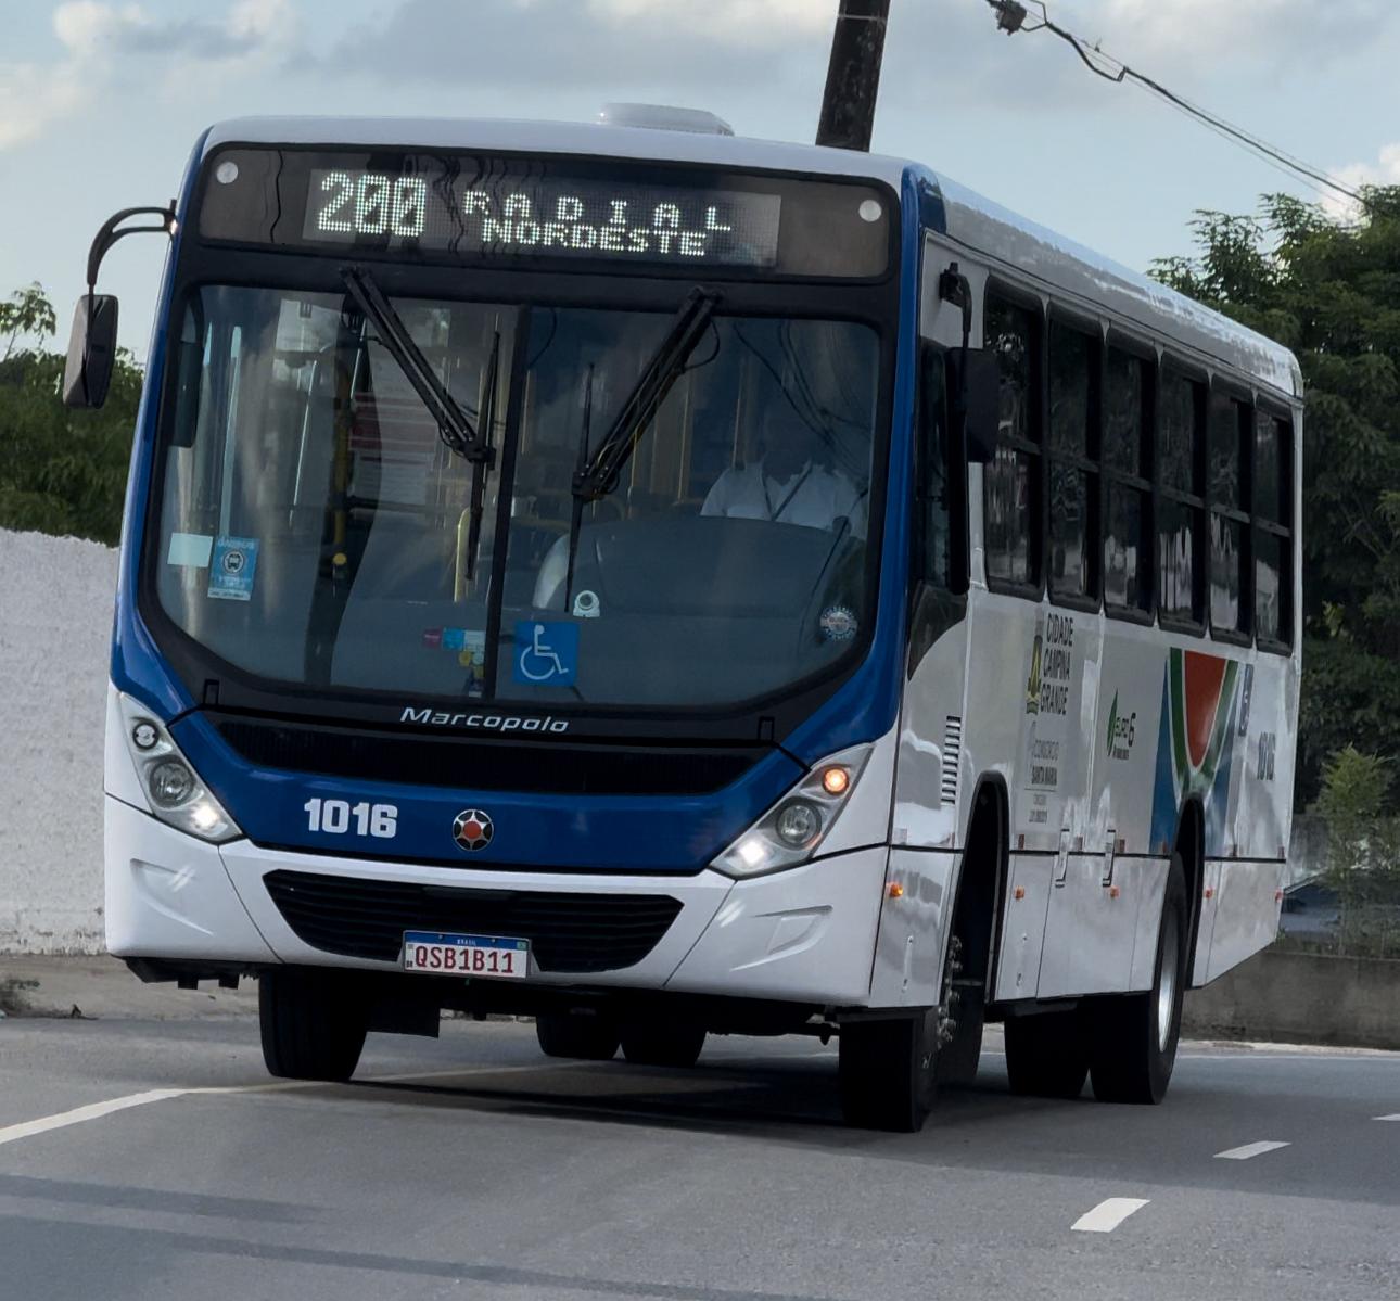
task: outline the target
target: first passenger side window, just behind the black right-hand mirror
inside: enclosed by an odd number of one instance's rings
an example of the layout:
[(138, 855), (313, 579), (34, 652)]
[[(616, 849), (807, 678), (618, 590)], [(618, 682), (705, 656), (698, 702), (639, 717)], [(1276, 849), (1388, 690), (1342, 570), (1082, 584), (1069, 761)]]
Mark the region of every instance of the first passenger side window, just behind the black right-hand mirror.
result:
[(1000, 445), (983, 472), (987, 578), (1040, 585), (1040, 319), (988, 297), (986, 346), (1001, 363)]

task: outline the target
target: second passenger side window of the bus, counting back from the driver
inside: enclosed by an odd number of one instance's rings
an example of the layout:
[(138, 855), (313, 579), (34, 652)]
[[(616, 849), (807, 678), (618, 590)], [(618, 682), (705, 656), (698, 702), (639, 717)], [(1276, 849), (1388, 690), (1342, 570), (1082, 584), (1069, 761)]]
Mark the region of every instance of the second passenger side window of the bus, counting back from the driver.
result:
[(1050, 591), (1071, 601), (1098, 595), (1095, 570), (1099, 475), (1093, 426), (1099, 345), (1050, 325)]

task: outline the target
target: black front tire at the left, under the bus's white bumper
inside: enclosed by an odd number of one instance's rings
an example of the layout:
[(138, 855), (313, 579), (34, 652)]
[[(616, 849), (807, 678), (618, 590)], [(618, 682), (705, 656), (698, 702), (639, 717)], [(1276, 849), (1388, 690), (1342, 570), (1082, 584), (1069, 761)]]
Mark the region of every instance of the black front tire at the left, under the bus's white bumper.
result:
[(286, 968), (258, 980), (267, 1071), (284, 1080), (343, 1081), (364, 1050), (364, 1003), (344, 976)]

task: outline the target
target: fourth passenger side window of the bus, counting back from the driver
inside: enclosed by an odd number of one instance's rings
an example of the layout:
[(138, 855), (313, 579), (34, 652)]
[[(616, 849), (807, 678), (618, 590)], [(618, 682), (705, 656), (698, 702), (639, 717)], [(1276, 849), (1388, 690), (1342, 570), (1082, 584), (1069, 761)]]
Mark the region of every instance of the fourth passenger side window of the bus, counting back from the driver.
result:
[(1176, 623), (1200, 623), (1203, 615), (1204, 408), (1205, 385), (1163, 371), (1158, 426), (1158, 611), (1163, 620)]

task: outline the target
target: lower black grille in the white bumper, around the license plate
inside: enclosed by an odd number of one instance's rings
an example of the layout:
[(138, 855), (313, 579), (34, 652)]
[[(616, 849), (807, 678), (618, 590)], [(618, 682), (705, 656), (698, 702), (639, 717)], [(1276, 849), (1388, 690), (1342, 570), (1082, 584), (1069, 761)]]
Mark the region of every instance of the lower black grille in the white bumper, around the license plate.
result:
[(680, 902), (668, 895), (462, 889), (279, 870), (267, 893), (298, 940), (328, 954), (395, 962), (409, 930), (529, 940), (545, 972), (633, 966), (666, 933)]

